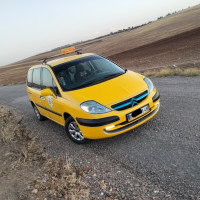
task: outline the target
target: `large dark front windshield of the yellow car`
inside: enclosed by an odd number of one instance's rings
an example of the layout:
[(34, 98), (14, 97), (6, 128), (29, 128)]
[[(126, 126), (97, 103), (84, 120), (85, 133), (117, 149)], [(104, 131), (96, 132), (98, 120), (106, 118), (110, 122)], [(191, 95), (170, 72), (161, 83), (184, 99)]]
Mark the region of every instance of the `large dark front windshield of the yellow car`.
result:
[(69, 61), (52, 69), (63, 91), (88, 87), (125, 73), (122, 68), (98, 55)]

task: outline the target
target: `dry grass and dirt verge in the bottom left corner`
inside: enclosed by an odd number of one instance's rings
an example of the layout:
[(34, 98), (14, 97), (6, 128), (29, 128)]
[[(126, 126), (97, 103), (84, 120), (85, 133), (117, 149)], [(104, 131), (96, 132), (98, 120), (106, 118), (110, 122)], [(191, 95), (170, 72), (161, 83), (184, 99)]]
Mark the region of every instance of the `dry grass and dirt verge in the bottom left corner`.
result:
[(68, 156), (49, 158), (31, 137), (23, 118), (5, 106), (0, 106), (0, 145), (2, 198), (89, 199), (88, 186), (82, 181), (84, 172), (74, 169)]

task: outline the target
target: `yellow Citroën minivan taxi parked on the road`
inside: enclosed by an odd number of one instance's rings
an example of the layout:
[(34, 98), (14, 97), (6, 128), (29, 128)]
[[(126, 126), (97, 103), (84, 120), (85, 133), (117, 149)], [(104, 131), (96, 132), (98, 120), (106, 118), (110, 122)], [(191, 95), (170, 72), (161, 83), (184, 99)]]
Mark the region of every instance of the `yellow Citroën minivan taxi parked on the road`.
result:
[(64, 126), (79, 144), (127, 132), (151, 119), (160, 107), (150, 79), (96, 54), (31, 67), (27, 92), (37, 118)]

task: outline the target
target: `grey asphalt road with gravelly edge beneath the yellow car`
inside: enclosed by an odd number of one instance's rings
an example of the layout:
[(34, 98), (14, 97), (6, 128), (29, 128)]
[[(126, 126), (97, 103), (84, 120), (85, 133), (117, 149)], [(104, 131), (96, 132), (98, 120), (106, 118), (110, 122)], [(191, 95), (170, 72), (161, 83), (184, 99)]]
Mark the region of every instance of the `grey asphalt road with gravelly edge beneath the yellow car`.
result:
[(153, 119), (86, 145), (72, 143), (63, 127), (50, 120), (37, 121), (25, 85), (0, 87), (0, 103), (24, 115), (51, 156), (67, 153), (77, 169), (87, 172), (95, 197), (200, 199), (200, 77), (152, 80), (161, 94)]

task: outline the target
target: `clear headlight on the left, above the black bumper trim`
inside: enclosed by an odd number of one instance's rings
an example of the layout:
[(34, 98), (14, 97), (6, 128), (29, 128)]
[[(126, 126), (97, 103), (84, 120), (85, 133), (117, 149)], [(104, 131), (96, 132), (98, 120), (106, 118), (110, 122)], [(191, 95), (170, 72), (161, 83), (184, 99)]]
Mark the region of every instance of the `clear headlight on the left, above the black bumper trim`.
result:
[(111, 110), (106, 108), (105, 106), (97, 103), (96, 101), (85, 101), (83, 102), (80, 107), (90, 114), (102, 114), (110, 112)]

